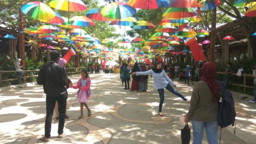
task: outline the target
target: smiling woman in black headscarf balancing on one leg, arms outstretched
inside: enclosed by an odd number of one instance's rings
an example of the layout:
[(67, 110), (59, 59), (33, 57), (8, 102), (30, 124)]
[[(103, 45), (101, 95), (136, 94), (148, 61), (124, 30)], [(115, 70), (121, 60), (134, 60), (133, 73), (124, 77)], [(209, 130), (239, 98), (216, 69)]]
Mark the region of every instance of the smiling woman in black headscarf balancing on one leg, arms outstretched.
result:
[[(180, 94), (177, 90), (175, 90), (171, 85), (176, 87), (176, 84), (168, 78), (167, 74), (165, 71), (162, 69), (162, 63), (157, 62), (157, 65), (155, 68), (150, 69), (149, 71), (146, 72), (133, 72), (132, 75), (152, 75), (154, 79), (154, 87), (158, 90), (159, 96), (160, 96), (160, 103), (159, 103), (159, 115), (164, 116), (162, 113), (162, 106), (164, 103), (164, 88), (167, 89), (168, 91), (171, 91), (173, 94), (176, 96), (182, 98), (186, 102), (190, 102), (190, 100), (186, 99), (182, 94)], [(171, 85), (170, 85), (171, 84)]]

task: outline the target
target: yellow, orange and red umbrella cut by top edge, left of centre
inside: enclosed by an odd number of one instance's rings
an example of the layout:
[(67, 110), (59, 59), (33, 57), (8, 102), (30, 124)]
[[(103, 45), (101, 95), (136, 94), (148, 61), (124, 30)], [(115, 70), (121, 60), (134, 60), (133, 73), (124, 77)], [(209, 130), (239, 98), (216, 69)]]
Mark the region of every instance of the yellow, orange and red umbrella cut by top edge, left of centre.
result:
[(81, 0), (51, 0), (50, 7), (63, 11), (86, 10), (86, 6)]

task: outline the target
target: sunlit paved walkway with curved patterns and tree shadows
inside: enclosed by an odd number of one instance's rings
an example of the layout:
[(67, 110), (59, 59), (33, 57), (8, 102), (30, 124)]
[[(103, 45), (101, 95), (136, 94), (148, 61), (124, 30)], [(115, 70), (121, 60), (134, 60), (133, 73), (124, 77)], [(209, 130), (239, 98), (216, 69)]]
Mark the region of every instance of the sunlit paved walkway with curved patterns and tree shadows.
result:
[[(71, 77), (76, 83), (80, 75)], [(179, 117), (184, 115), (189, 104), (165, 90), (164, 117), (157, 115), (159, 95), (149, 77), (147, 92), (124, 90), (118, 74), (91, 74), (92, 96), (88, 105), (92, 116), (78, 119), (80, 105), (77, 90), (68, 89), (68, 108), (64, 138), (57, 138), (57, 121), (52, 122), (49, 143), (68, 144), (179, 144), (180, 128), (184, 123)], [(26, 86), (24, 86), (26, 85)], [(42, 86), (23, 84), (18, 89), (0, 90), (0, 143), (34, 144), (44, 134), (46, 114), (45, 94)], [(177, 82), (177, 90), (190, 98), (192, 87)], [(255, 144), (256, 104), (241, 100), (233, 93), (236, 101), (237, 127), (222, 130), (221, 144)], [(244, 96), (244, 95), (242, 95)], [(248, 98), (252, 100), (252, 96)], [(84, 108), (84, 110), (86, 110)], [(191, 123), (189, 123), (191, 126)], [(219, 130), (220, 131), (220, 130)], [(191, 131), (191, 143), (192, 143)], [(206, 136), (203, 144), (207, 144)]]

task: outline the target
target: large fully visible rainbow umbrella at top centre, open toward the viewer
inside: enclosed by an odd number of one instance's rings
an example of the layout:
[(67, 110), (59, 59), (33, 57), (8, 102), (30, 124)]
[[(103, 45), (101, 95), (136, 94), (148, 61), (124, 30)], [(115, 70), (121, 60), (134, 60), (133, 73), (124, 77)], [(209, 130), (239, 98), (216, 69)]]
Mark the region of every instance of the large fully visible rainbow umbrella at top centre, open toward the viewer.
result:
[(129, 6), (128, 3), (118, 1), (108, 4), (101, 11), (101, 14), (110, 19), (124, 19), (131, 17), (136, 13), (136, 9)]

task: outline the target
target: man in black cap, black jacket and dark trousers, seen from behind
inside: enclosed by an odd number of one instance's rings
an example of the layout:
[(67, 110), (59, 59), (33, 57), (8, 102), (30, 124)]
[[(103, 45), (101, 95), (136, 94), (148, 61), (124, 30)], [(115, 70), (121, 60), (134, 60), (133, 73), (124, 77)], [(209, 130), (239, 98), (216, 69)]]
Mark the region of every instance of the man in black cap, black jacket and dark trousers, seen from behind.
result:
[(55, 50), (50, 52), (50, 61), (43, 65), (38, 73), (38, 84), (43, 84), (43, 90), (46, 94), (46, 118), (45, 118), (45, 136), (40, 140), (50, 141), (51, 137), (51, 119), (55, 102), (58, 101), (59, 124), (58, 138), (64, 136), (63, 128), (65, 123), (65, 109), (67, 102), (66, 84), (68, 81), (65, 69), (58, 65), (60, 52)]

